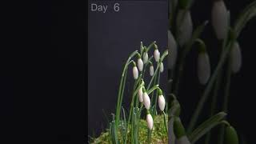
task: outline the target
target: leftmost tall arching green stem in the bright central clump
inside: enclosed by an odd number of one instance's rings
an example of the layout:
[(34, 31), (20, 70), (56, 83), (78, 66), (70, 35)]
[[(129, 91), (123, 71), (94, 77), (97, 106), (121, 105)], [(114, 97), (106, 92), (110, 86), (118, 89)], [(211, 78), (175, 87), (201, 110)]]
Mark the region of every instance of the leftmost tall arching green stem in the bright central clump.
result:
[(118, 127), (119, 120), (120, 120), (122, 96), (123, 96), (123, 91), (124, 91), (124, 87), (125, 87), (123, 85), (125, 85), (125, 83), (126, 83), (127, 68), (128, 68), (129, 63), (130, 63), (130, 59), (133, 58), (136, 54), (138, 54), (138, 50), (135, 50), (132, 54), (130, 54), (129, 58), (126, 61), (126, 65), (124, 66), (123, 71), (122, 71), (122, 77), (121, 77), (119, 90), (118, 90), (118, 102), (117, 102), (116, 114), (115, 114), (115, 116), (116, 116), (116, 118), (115, 118), (116, 128)]

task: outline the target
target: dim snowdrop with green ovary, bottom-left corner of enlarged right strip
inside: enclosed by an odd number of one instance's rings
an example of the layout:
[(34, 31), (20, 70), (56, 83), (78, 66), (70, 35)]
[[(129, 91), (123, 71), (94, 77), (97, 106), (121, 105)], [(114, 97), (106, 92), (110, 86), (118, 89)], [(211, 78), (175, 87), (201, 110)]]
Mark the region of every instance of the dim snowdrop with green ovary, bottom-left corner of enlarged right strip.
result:
[(176, 137), (176, 144), (190, 144), (190, 141), (186, 137), (186, 132), (182, 122), (178, 117), (174, 118), (174, 134)]

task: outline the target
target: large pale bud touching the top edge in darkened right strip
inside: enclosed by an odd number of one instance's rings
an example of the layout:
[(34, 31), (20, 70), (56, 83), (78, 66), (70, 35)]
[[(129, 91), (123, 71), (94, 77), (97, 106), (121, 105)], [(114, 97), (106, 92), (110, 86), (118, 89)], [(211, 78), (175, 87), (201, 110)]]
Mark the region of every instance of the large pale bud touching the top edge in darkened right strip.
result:
[(211, 11), (212, 25), (218, 39), (226, 38), (228, 30), (228, 13), (225, 3), (220, 1), (214, 1)]

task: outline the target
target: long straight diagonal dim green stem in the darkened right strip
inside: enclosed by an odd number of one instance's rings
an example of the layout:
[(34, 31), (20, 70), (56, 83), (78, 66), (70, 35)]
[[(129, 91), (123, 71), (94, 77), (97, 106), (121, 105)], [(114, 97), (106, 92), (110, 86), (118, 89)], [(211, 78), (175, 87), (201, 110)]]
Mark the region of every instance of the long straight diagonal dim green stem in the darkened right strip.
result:
[(208, 83), (208, 85), (206, 86), (206, 89), (204, 90), (203, 94), (202, 94), (202, 98), (200, 99), (200, 101), (198, 102), (198, 106), (196, 107), (194, 114), (190, 120), (190, 124), (188, 126), (188, 134), (191, 133), (191, 131), (194, 129), (194, 126), (198, 120), (198, 116), (202, 110), (202, 107), (204, 106), (204, 103), (206, 102), (206, 99), (209, 97), (210, 94), (210, 90), (212, 89), (214, 82), (220, 72), (220, 70), (222, 69), (222, 66), (224, 65), (224, 63), (226, 62), (226, 58), (227, 58), (227, 54), (230, 53), (230, 49), (234, 44), (234, 39), (231, 39), (231, 41), (229, 42), (228, 46), (226, 47), (226, 49), (224, 50), (224, 53), (222, 53), (221, 58), (218, 62), (218, 65), (216, 67), (216, 69), (214, 70), (213, 75), (210, 78), (210, 81)]

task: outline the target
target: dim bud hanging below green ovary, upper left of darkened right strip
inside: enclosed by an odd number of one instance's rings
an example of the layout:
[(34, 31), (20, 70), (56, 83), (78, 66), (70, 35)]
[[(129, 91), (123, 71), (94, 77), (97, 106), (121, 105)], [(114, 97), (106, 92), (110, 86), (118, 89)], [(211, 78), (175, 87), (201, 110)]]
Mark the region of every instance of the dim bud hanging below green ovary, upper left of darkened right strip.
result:
[[(184, 13), (185, 15), (183, 17)], [(181, 9), (178, 11), (176, 26), (178, 27), (178, 44), (184, 46), (190, 40), (193, 31), (190, 10)]]

